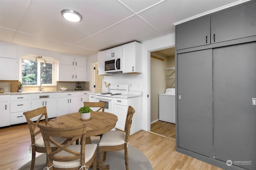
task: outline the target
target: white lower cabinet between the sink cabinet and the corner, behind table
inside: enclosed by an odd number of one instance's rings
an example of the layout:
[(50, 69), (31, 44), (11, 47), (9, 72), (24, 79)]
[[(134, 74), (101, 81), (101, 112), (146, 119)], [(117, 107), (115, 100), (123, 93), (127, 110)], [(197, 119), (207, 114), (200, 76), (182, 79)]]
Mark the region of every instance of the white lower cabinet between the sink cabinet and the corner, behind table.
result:
[(80, 92), (58, 93), (57, 116), (78, 112), (81, 105)]

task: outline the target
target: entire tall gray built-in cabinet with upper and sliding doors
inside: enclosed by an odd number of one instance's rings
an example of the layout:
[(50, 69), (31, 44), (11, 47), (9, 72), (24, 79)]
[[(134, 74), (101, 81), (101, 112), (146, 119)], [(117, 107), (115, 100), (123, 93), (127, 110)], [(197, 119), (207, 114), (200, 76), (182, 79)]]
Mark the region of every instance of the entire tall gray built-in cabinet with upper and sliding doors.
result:
[(226, 170), (256, 170), (255, 11), (176, 25), (176, 150)]

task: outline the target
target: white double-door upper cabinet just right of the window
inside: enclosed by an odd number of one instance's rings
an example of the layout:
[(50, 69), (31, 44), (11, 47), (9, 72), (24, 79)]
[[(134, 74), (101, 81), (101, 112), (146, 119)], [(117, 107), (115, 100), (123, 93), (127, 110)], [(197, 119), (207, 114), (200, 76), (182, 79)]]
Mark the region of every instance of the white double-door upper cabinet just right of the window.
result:
[(86, 81), (86, 58), (61, 55), (60, 81)]

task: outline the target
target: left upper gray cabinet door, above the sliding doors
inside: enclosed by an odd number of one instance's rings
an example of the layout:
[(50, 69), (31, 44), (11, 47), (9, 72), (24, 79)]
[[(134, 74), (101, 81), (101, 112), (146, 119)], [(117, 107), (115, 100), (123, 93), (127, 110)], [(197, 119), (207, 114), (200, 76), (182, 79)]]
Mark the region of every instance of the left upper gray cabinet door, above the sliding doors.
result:
[(176, 26), (176, 49), (210, 44), (210, 17)]

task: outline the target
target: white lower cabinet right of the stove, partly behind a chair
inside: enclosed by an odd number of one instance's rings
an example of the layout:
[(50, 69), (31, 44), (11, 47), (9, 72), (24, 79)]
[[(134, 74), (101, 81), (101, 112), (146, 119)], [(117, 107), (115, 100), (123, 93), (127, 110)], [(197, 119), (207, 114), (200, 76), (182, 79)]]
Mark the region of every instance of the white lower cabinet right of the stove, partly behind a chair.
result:
[(142, 98), (114, 98), (114, 114), (118, 117), (116, 122), (116, 128), (124, 131), (126, 115), (128, 106), (132, 106), (135, 109), (135, 113), (132, 117), (132, 126), (130, 135), (140, 131), (142, 129)]

